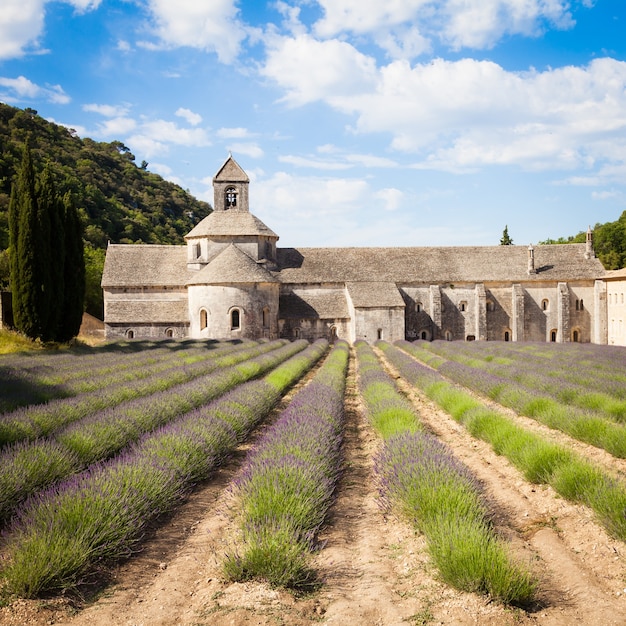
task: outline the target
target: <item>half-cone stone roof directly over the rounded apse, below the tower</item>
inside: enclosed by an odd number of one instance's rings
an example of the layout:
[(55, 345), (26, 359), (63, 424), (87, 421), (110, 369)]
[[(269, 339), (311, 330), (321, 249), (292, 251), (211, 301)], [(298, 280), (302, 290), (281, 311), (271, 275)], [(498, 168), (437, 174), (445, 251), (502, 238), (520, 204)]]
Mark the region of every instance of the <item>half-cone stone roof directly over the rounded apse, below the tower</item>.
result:
[(229, 283), (277, 283), (263, 265), (251, 259), (235, 244), (224, 248), (204, 268), (193, 272), (187, 285), (224, 285)]

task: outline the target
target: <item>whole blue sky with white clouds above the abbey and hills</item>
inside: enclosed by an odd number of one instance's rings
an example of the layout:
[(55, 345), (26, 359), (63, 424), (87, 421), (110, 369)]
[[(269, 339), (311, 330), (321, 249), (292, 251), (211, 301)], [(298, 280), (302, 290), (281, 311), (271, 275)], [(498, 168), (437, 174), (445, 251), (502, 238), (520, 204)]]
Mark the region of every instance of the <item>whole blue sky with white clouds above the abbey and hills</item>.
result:
[(626, 210), (623, 0), (2, 0), (0, 101), (281, 246), (514, 243)]

